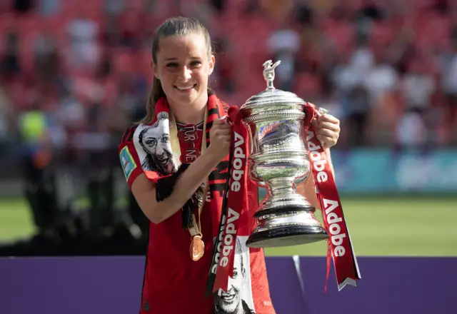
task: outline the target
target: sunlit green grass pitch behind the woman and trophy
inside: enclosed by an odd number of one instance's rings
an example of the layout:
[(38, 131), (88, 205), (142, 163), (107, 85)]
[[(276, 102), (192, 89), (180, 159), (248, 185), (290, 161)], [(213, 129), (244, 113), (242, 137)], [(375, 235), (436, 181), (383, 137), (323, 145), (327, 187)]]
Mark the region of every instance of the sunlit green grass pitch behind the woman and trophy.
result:
[[(457, 198), (343, 198), (357, 256), (457, 255)], [(320, 217), (320, 212), (317, 214)], [(0, 242), (31, 235), (22, 200), (0, 200)], [(326, 255), (326, 242), (267, 249), (268, 255)]]

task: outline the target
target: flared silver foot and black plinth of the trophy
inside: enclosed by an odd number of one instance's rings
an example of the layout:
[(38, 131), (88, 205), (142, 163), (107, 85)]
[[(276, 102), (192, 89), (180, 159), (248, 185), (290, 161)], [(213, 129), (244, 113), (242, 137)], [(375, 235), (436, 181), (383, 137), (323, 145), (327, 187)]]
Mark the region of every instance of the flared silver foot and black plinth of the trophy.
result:
[(265, 208), (254, 215), (258, 225), (246, 241), (249, 248), (278, 248), (313, 243), (328, 238), (314, 217), (312, 206)]

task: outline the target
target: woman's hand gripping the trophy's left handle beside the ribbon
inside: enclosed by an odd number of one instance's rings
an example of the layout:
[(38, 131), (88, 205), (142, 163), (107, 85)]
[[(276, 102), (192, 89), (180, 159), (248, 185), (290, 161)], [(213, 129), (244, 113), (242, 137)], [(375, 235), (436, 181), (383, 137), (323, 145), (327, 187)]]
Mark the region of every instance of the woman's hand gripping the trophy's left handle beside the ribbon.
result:
[(230, 150), (231, 143), (231, 126), (226, 118), (217, 119), (209, 131), (211, 143), (208, 147), (208, 153), (219, 162), (224, 159)]

